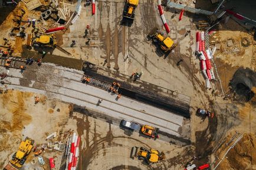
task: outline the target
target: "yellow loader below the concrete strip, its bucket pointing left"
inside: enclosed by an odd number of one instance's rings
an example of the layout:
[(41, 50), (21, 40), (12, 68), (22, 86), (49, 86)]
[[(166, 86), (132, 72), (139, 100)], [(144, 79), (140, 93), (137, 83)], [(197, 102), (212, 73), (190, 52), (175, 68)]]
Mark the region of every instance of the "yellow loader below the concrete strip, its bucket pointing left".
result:
[(143, 160), (148, 164), (151, 164), (165, 159), (165, 154), (157, 151), (156, 149), (147, 149), (143, 147), (139, 148), (137, 146), (133, 146), (131, 157), (137, 157), (139, 160)]

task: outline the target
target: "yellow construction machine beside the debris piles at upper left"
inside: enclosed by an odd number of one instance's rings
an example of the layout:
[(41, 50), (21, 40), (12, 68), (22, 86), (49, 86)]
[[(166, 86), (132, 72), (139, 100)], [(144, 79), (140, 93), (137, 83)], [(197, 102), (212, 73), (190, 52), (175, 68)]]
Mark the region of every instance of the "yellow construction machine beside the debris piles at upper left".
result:
[(34, 47), (51, 47), (55, 48), (57, 46), (57, 39), (54, 34), (51, 35), (40, 35), (33, 37), (31, 34), (28, 35), (27, 40), (28, 46)]

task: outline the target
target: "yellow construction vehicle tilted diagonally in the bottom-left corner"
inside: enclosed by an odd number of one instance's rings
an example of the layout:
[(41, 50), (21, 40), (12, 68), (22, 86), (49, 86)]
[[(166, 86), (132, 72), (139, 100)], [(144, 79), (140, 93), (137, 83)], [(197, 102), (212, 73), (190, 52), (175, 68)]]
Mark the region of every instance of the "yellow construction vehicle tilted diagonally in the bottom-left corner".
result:
[(25, 140), (19, 145), (19, 150), (12, 155), (12, 160), (10, 163), (18, 168), (21, 168), (21, 166), (25, 163), (28, 154), (32, 151), (33, 144), (34, 140), (26, 137)]

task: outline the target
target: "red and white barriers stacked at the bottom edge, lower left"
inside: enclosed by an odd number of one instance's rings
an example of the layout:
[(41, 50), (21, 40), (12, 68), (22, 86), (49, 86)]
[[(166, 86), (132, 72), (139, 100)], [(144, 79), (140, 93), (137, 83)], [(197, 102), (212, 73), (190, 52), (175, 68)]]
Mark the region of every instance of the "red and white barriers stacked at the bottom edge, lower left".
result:
[(77, 166), (78, 155), (79, 155), (79, 144), (80, 144), (80, 136), (74, 133), (67, 141), (67, 164), (65, 170), (74, 170)]

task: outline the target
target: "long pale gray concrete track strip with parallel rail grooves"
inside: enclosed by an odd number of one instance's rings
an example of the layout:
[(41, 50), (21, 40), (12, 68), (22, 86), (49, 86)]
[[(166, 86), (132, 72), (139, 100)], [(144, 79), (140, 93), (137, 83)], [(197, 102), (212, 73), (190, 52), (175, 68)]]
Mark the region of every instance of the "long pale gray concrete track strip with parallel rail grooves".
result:
[[(9, 88), (45, 94), (114, 118), (157, 126), (168, 134), (189, 138), (189, 126), (183, 126), (188, 121), (182, 116), (124, 96), (116, 100), (116, 95), (82, 84), (82, 74), (81, 71), (45, 64), (40, 67), (31, 66), (23, 74), (18, 69), (10, 69), (6, 82), (10, 84)], [(103, 102), (97, 105), (99, 99), (103, 99)]]

